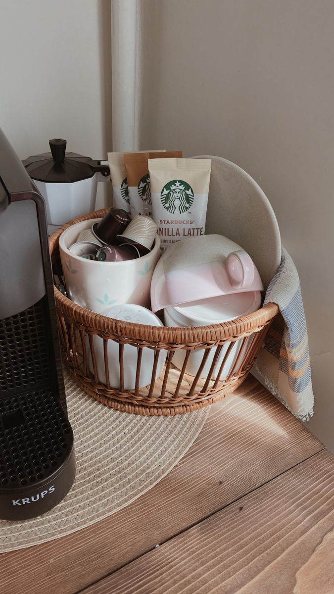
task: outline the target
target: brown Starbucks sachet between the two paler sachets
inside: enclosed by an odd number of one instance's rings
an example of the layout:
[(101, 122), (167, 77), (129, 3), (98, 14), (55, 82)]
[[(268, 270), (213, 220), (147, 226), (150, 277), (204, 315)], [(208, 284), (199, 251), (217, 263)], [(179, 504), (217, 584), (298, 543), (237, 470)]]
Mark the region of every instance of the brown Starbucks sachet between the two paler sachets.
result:
[(152, 216), (152, 201), (149, 175), (149, 159), (168, 159), (182, 157), (182, 151), (155, 151), (147, 153), (125, 153), (124, 163), (127, 172), (128, 191), (130, 197), (131, 217), (138, 214)]

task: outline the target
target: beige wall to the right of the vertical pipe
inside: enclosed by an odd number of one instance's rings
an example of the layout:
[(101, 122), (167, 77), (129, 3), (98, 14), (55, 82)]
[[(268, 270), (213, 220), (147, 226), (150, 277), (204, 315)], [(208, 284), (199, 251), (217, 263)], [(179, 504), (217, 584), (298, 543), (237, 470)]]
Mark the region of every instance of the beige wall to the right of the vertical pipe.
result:
[(334, 451), (334, 3), (146, 8), (143, 146), (220, 155), (266, 192), (301, 278), (316, 396), (308, 427)]

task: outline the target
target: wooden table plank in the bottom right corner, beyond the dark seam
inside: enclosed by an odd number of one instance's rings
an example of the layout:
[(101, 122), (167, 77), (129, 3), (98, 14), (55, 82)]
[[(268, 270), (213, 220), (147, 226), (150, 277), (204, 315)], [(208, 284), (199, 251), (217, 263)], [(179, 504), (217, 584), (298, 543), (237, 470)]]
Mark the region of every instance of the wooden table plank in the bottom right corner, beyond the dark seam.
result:
[(83, 594), (330, 594), (333, 478), (316, 454)]

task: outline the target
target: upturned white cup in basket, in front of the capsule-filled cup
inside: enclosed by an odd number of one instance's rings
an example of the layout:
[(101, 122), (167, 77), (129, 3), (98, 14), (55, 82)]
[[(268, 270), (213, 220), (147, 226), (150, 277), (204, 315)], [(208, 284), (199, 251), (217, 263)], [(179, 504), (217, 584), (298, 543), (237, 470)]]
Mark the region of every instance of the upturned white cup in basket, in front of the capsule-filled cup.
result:
[[(163, 326), (162, 321), (152, 311), (139, 305), (124, 304), (113, 305), (102, 312), (109, 318), (116, 318), (116, 320), (125, 320), (135, 324), (149, 324), (149, 326)], [(106, 384), (105, 372), (105, 357), (103, 350), (103, 339), (100, 336), (93, 336), (94, 355), (96, 359), (96, 369), (98, 380), (102, 384)], [(86, 345), (90, 353), (89, 339), (86, 337)], [(156, 369), (156, 378), (162, 373), (167, 356), (166, 350), (160, 350), (159, 360)], [(137, 370), (138, 349), (133, 345), (124, 345), (123, 350), (123, 364), (124, 364), (124, 390), (134, 390), (136, 388), (136, 370)], [(89, 368), (92, 373), (93, 362), (92, 357), (89, 357)], [(139, 387), (148, 386), (152, 380), (152, 369), (155, 359), (155, 350), (149, 347), (143, 348), (141, 355)], [(108, 340), (108, 371), (109, 381), (113, 388), (119, 389), (121, 381), (119, 377), (119, 344), (115, 340)]]

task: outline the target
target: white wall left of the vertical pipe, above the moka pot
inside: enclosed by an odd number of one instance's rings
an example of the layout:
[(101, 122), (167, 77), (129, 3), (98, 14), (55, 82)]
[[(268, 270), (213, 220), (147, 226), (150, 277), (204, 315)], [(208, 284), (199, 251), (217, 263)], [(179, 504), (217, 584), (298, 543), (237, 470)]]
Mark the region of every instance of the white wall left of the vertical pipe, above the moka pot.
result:
[(0, 127), (21, 159), (49, 138), (93, 159), (111, 150), (110, 12), (109, 0), (0, 0)]

